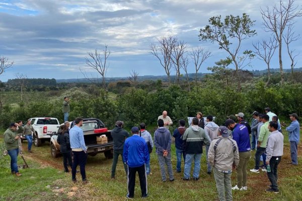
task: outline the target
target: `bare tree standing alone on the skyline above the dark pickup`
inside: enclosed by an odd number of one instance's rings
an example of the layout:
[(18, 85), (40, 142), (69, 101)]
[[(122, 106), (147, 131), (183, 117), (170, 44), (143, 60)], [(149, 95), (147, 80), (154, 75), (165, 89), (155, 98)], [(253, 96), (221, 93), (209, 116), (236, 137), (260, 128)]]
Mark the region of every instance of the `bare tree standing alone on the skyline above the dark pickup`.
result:
[(94, 52), (88, 52), (89, 57), (85, 57), (86, 64), (97, 70), (98, 73), (102, 76), (102, 86), (106, 88), (106, 72), (109, 67), (107, 62), (109, 55), (111, 54), (108, 46), (105, 44), (105, 49), (103, 54), (96, 49)]

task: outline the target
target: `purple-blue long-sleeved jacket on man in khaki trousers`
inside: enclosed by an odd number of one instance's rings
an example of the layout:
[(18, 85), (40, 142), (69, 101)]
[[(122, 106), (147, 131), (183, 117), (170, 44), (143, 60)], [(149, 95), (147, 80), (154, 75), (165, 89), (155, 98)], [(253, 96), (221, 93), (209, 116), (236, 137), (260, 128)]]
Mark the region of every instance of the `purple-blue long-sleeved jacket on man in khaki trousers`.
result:
[(237, 142), (239, 152), (251, 150), (251, 141), (248, 128), (243, 124), (236, 124), (233, 129), (233, 140)]

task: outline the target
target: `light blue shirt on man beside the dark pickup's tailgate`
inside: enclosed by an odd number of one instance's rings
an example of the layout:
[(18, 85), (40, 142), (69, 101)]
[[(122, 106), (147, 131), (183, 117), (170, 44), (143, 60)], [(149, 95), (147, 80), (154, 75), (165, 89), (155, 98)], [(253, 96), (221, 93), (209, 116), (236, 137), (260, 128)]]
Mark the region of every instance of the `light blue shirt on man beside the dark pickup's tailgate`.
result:
[(84, 141), (84, 132), (83, 130), (75, 125), (69, 131), (69, 140), (71, 149), (83, 149), (85, 152), (87, 151), (87, 147)]

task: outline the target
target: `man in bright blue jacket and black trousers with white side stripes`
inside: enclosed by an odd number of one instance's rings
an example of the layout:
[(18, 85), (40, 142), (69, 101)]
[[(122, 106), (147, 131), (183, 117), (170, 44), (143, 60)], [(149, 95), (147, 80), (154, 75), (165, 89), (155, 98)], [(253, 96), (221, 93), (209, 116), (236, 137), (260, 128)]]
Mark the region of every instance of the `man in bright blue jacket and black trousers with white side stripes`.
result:
[(135, 174), (138, 173), (141, 197), (147, 197), (147, 176), (145, 164), (149, 163), (149, 152), (145, 140), (139, 137), (137, 127), (132, 127), (132, 137), (127, 138), (123, 148), (123, 159), (128, 165), (128, 193), (127, 198), (134, 197)]

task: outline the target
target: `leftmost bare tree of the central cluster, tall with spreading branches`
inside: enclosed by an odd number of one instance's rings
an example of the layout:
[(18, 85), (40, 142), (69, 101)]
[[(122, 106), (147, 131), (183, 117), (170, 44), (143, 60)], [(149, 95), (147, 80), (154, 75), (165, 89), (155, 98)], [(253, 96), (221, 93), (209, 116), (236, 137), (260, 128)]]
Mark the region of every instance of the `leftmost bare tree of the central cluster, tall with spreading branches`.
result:
[(170, 83), (170, 73), (171, 73), (171, 54), (174, 46), (177, 43), (177, 38), (175, 36), (161, 37), (158, 39), (159, 45), (152, 43), (150, 45), (151, 54), (159, 59), (161, 65), (165, 69), (165, 72)]

